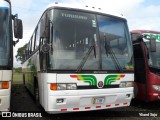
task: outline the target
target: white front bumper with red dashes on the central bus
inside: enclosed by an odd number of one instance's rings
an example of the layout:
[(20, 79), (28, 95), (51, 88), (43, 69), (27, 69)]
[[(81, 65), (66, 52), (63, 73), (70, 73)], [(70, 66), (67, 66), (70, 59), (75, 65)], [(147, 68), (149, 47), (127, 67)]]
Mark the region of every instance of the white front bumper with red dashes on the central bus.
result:
[(52, 91), (48, 96), (45, 111), (56, 114), (129, 106), (133, 97), (133, 88), (120, 89)]

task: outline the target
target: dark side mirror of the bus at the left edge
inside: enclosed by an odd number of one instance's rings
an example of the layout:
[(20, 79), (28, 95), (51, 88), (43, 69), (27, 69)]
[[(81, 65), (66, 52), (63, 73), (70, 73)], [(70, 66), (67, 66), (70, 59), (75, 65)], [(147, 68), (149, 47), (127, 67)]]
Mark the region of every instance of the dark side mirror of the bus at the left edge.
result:
[(18, 39), (23, 38), (22, 20), (17, 19), (17, 18), (14, 19), (14, 37)]

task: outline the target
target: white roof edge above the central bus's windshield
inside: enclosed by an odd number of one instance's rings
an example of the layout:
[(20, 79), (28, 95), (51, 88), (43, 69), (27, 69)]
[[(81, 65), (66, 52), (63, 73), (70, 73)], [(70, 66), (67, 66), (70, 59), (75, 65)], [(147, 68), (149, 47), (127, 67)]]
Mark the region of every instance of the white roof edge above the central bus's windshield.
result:
[(89, 11), (89, 12), (98, 12), (98, 13), (103, 13), (103, 14), (107, 14), (107, 15), (112, 15), (112, 16), (116, 16), (116, 17), (120, 17), (125, 19), (125, 17), (122, 14), (118, 14), (116, 12), (113, 11), (104, 11), (101, 8), (96, 8), (96, 7), (92, 7), (92, 6), (82, 6), (82, 5), (78, 5), (78, 4), (66, 4), (66, 3), (51, 3), (50, 5), (48, 5), (48, 8), (54, 8), (54, 7), (59, 7), (59, 8), (68, 8), (68, 9), (74, 9), (74, 10), (85, 10), (85, 11)]

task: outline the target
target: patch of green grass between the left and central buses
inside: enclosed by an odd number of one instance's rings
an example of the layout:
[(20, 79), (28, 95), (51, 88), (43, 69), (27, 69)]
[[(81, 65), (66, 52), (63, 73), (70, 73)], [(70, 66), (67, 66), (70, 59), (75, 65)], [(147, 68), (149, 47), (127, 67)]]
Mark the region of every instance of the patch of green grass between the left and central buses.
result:
[(13, 84), (23, 84), (22, 73), (13, 73)]

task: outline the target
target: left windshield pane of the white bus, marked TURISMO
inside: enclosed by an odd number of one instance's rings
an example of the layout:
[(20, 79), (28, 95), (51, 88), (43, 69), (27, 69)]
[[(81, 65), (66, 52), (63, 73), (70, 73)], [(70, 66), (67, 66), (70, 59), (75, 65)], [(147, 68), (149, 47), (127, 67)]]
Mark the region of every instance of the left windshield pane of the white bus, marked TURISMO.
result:
[[(91, 48), (97, 43), (96, 16), (89, 13), (55, 10), (53, 19), (53, 54), (50, 54), (51, 69), (76, 70), (83, 64), (82, 69), (96, 70), (99, 68), (99, 52)], [(95, 54), (97, 55), (95, 57)]]

